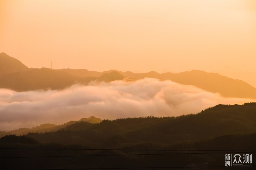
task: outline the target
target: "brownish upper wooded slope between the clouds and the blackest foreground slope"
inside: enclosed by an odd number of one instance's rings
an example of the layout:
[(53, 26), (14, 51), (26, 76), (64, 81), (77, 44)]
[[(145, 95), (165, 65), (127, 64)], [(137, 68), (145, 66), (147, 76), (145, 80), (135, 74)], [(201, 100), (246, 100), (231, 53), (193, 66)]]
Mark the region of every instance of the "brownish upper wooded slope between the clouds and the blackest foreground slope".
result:
[[(30, 133), (27, 136), (42, 142), (63, 144), (75, 144), (70, 142), (70, 137), (77, 136), (87, 141), (78, 142), (79, 144), (95, 147), (121, 147), (128, 143), (145, 142), (171, 144), (188, 140), (198, 141), (237, 133), (255, 133), (255, 110), (256, 103), (217, 105), (198, 114), (103, 120), (96, 125), (77, 123), (65, 128), (69, 131), (53, 132), (48, 136)], [(106, 146), (106, 143), (109, 146)]]

